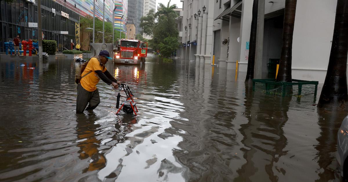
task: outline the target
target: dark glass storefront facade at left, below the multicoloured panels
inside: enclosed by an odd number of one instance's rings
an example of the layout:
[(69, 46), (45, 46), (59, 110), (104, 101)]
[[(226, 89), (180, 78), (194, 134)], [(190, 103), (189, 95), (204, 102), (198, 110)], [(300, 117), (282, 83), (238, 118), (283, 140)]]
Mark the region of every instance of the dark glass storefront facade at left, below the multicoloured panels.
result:
[[(29, 27), (31, 22), (38, 22), (38, 3), (26, 0), (15, 2), (1, 1), (0, 14), (0, 52), (4, 52), (4, 42), (13, 40), (17, 35), (23, 39), (38, 39), (38, 28)], [(55, 12), (55, 13), (54, 13)], [(69, 14), (69, 18), (62, 16)], [(58, 50), (62, 47), (70, 49), (71, 39), (80, 42), (80, 15), (52, 0), (41, 0), (42, 39), (56, 40)]]

